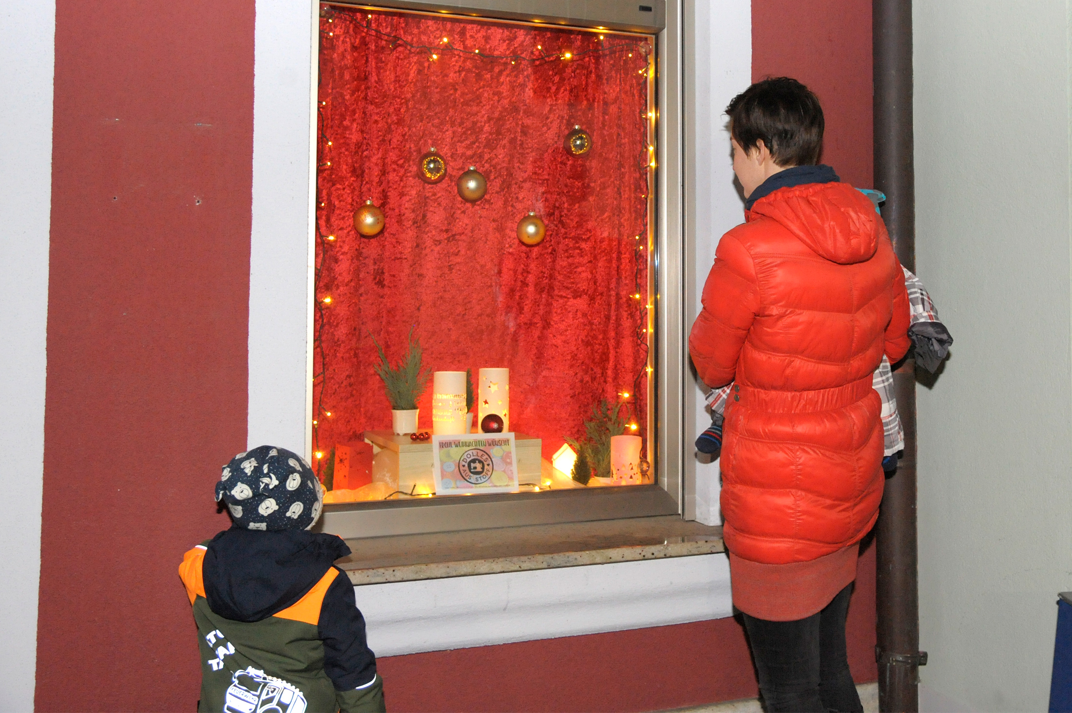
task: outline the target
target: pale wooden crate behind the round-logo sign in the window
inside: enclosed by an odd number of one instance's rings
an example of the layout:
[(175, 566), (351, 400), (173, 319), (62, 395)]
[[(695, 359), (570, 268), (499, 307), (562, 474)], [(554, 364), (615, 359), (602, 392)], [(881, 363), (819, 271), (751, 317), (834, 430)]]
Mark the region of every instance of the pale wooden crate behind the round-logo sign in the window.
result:
[[(393, 490), (405, 493), (435, 492), (431, 441), (415, 442), (408, 435), (394, 435), (391, 431), (366, 431), (364, 441), (372, 444), (373, 482), (386, 482)], [(540, 439), (513, 434), (519, 482), (539, 485), (542, 444)]]

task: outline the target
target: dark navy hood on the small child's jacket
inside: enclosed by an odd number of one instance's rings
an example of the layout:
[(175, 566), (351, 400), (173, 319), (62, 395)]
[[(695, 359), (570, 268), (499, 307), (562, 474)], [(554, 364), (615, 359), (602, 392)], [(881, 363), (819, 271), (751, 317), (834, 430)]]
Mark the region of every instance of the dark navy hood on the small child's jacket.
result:
[(349, 552), (337, 535), (232, 528), (208, 544), (205, 598), (220, 617), (258, 622), (298, 601)]

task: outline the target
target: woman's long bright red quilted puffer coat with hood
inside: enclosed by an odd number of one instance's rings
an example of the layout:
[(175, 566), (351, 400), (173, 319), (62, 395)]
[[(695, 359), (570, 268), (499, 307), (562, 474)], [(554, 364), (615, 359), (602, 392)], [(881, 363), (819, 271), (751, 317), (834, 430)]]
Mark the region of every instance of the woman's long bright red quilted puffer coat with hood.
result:
[(718, 243), (688, 347), (726, 409), (728, 549), (815, 560), (878, 517), (881, 404), (872, 373), (908, 351), (908, 295), (882, 220), (846, 183), (774, 191)]

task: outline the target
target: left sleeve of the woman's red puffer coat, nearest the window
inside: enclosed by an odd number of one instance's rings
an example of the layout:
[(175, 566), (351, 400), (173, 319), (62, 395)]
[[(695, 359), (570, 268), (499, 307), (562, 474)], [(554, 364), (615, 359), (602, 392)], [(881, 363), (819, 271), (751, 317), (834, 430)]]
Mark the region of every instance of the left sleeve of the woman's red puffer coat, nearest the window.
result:
[(718, 241), (702, 302), (688, 336), (688, 353), (704, 384), (723, 386), (733, 381), (760, 304), (751, 255), (732, 234)]

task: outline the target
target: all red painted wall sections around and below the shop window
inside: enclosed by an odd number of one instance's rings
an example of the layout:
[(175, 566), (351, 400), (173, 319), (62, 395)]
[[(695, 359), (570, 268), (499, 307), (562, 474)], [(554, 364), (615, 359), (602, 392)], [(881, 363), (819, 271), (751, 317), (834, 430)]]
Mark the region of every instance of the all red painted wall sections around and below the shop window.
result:
[[(869, 185), (870, 3), (756, 0), (754, 73), (812, 86)], [(742, 87), (743, 89), (743, 87)], [(245, 446), (253, 0), (58, 0), (40, 710), (190, 710), (176, 568)], [(198, 203), (199, 202), (199, 203)], [(875, 680), (874, 548), (849, 614)], [(509, 657), (468, 689), (458, 671)], [(394, 710), (644, 710), (756, 695), (732, 619), (382, 659)]]

